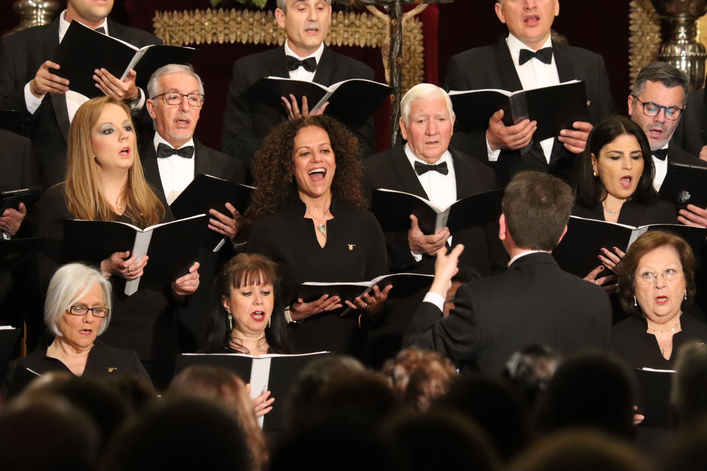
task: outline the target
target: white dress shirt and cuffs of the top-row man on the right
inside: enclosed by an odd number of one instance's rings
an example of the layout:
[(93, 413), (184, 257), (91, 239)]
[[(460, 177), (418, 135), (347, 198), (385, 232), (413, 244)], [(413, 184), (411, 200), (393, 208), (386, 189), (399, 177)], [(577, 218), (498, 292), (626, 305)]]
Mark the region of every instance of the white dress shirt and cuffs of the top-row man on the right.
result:
[[(532, 49), (527, 47), (522, 41), (511, 34), (509, 34), (506, 38), (506, 44), (508, 44), (510, 56), (513, 58), (513, 65), (515, 66), (515, 71), (518, 72), (518, 78), (520, 78), (520, 85), (522, 85), (523, 90), (560, 84), (560, 76), (557, 73), (557, 64), (555, 63), (554, 54), (552, 56), (551, 64), (545, 64), (534, 57), (521, 66), (518, 62), (520, 59), (520, 49), (528, 49), (529, 51), (532, 51)], [(540, 49), (544, 49), (545, 47), (552, 47), (552, 40), (550, 37), (547, 38), (547, 41)], [(552, 154), (552, 146), (554, 145), (554, 142), (554, 138), (545, 139), (540, 142), (547, 163), (550, 163), (550, 155)], [(498, 160), (498, 155), (501, 153), (500, 149), (491, 150), (489, 141), (486, 141), (486, 151), (489, 153), (489, 162), (496, 162), (496, 160)]]

